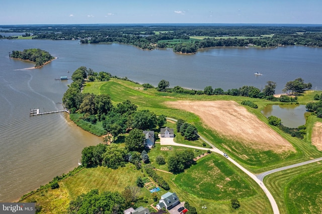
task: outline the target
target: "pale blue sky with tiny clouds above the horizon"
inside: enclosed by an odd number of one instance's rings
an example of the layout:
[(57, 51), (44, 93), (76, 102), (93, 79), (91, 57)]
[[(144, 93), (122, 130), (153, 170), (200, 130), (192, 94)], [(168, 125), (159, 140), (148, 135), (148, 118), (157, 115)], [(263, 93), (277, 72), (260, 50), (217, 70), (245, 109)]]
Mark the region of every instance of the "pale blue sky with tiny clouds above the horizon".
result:
[(322, 24), (322, 0), (4, 0), (0, 25)]

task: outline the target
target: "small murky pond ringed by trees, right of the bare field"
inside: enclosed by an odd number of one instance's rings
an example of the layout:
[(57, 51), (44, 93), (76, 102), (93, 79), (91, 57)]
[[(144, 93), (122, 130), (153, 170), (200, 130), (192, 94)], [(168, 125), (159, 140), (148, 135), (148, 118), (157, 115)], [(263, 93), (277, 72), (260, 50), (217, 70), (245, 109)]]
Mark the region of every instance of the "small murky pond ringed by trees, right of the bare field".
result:
[(305, 105), (267, 105), (262, 113), (265, 117), (275, 116), (282, 120), (282, 124), (289, 128), (297, 128), (305, 125), (304, 113), (306, 112)]

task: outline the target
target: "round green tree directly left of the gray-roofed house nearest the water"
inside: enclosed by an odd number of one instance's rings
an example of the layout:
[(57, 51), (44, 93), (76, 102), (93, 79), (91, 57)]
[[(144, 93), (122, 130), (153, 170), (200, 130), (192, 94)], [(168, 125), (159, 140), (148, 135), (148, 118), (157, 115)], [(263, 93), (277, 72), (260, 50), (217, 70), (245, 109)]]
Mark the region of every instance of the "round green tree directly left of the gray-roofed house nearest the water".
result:
[(125, 137), (124, 143), (129, 151), (142, 151), (144, 149), (145, 135), (142, 130), (133, 129)]

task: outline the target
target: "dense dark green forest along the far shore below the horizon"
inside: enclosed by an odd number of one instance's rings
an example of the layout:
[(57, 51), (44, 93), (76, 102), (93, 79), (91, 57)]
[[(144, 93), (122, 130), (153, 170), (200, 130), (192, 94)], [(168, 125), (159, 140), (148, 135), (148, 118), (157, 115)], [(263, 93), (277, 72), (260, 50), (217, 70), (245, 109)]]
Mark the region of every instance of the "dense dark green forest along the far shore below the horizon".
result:
[[(142, 49), (173, 48), (194, 53), (206, 47), (322, 47), (321, 26), (222, 26), (222, 25), (50, 25), (0, 26), (4, 32), (21, 32), (33, 39), (79, 40), (84, 43), (125, 43)], [(10, 39), (10, 38), (8, 38)]]

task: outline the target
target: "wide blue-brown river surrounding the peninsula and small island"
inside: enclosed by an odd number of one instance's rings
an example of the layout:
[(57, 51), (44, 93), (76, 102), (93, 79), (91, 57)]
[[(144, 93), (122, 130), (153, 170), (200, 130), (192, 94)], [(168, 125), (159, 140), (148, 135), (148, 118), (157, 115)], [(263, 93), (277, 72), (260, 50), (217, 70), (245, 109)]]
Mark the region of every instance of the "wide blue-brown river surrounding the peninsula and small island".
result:
[[(28, 48), (58, 58), (39, 69), (24, 69), (34, 64), (9, 58), (13, 50)], [(166, 79), (171, 87), (201, 90), (208, 85), (224, 90), (243, 85), (264, 88), (271, 80), (281, 93), (286, 82), (298, 77), (322, 90), (321, 57), (321, 48), (308, 47), (212, 48), (181, 55), (120, 44), (0, 40), (0, 201), (17, 200), (68, 172), (77, 166), (84, 147), (103, 142), (75, 126), (66, 113), (29, 117), (30, 109), (63, 109), (61, 98), (70, 80), (55, 78), (70, 77), (79, 66), (155, 86)]]

